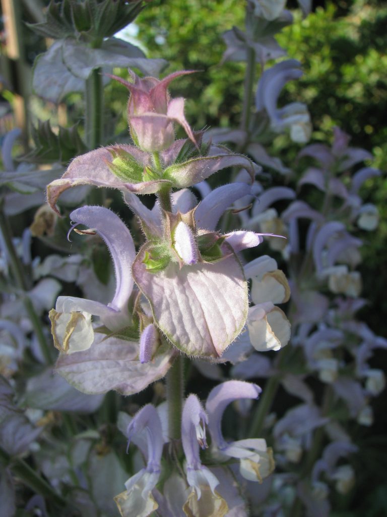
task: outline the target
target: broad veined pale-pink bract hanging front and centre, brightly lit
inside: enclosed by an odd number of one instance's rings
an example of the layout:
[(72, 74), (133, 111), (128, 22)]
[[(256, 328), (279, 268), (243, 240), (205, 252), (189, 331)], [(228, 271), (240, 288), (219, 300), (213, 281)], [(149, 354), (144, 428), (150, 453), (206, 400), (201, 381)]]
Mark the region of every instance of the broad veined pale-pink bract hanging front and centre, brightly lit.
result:
[(139, 251), (133, 277), (150, 302), (156, 325), (173, 345), (193, 356), (219, 357), (243, 329), (248, 312), (247, 282), (231, 248), (216, 263), (179, 268), (170, 263), (151, 273)]

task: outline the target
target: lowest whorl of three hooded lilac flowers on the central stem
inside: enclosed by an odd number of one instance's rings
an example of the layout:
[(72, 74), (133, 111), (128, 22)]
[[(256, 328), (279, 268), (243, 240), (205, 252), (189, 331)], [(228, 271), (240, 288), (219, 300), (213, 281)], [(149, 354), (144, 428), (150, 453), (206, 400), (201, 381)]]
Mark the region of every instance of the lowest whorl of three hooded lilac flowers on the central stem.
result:
[[(173, 464), (168, 460), (162, 462), (163, 446), (169, 442), (164, 421), (168, 410), (162, 411), (161, 406), (155, 408), (151, 404), (140, 409), (130, 420), (125, 434), (129, 442), (140, 448), (146, 465), (126, 481), (126, 490), (115, 497), (122, 517), (148, 517), (155, 510), (161, 517), (247, 515), (234, 475), (219, 462), (235, 458), (245, 479), (262, 482), (273, 470), (271, 449), (263, 439), (227, 443), (220, 426), (225, 406), (241, 398), (255, 399), (260, 392), (255, 384), (224, 382), (209, 394), (206, 410), (198, 397), (190, 394), (182, 413), (185, 460), (181, 467), (176, 460)], [(213, 442), (211, 466), (204, 465), (200, 458), (200, 449), (207, 448), (206, 427)]]

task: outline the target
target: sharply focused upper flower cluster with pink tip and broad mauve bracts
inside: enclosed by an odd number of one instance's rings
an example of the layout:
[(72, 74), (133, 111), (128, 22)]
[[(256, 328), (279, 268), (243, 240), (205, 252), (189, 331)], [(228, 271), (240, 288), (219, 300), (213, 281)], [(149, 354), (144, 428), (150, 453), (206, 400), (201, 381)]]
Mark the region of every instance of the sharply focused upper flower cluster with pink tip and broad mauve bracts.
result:
[[(124, 84), (131, 92), (128, 120), (137, 145), (100, 148), (80, 156), (47, 187), (52, 206), (62, 191), (78, 184), (119, 188), (147, 237), (136, 254), (130, 231), (112, 211), (84, 206), (70, 214), (73, 227), (83, 224), (103, 238), (116, 276), (116, 292), (107, 305), (60, 296), (50, 313), (54, 343), (61, 352), (57, 371), (88, 393), (111, 388), (124, 394), (139, 391), (165, 375), (176, 348), (190, 356), (219, 358), (246, 325), (248, 275), (238, 253), (259, 245), (263, 234), (221, 234), (216, 226), (232, 203), (252, 195), (257, 169), (248, 158), (224, 147), (201, 145), (202, 135), (194, 135), (185, 120), (183, 99), (171, 100), (167, 91), (179, 75), (159, 81), (132, 73), (133, 83)], [(175, 121), (188, 139), (174, 140)], [(244, 167), (247, 179), (215, 189), (199, 204), (186, 188), (170, 193), (172, 187), (191, 186), (229, 166)], [(152, 210), (135, 195), (139, 192), (158, 194)], [(271, 264), (253, 271), (250, 278), (259, 273), (267, 273), (286, 293), (282, 299), (272, 299), (269, 291), (261, 294), (262, 303), (249, 312), (249, 332), (253, 346), (268, 342), (267, 348), (278, 349), (288, 341), (289, 325), (272, 302), (288, 299), (288, 285)], [(92, 315), (99, 321), (93, 322)], [(271, 327), (277, 328), (279, 339), (271, 336)], [(273, 339), (276, 343), (270, 342)], [(90, 361), (95, 361), (92, 369)], [(114, 378), (107, 374), (113, 367)], [(111, 378), (108, 384), (101, 380), (101, 368), (104, 377)], [(138, 386), (127, 368), (138, 377)]]

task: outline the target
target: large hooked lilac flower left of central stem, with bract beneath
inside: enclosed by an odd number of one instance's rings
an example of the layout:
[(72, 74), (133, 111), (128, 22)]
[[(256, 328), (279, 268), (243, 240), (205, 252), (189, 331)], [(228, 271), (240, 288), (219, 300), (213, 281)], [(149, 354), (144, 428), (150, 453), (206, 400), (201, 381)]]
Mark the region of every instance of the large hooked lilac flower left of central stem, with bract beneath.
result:
[[(110, 389), (136, 393), (164, 377), (174, 351), (160, 342), (158, 332), (150, 327), (152, 318), (146, 314), (141, 314), (145, 327), (139, 339), (139, 314), (128, 309), (134, 287), (132, 236), (114, 212), (101, 206), (78, 208), (71, 218), (93, 228), (105, 240), (117, 285), (108, 305), (73, 296), (58, 298), (50, 311), (54, 344), (60, 351), (56, 371), (85, 393)], [(92, 316), (99, 316), (102, 325), (93, 323)]]

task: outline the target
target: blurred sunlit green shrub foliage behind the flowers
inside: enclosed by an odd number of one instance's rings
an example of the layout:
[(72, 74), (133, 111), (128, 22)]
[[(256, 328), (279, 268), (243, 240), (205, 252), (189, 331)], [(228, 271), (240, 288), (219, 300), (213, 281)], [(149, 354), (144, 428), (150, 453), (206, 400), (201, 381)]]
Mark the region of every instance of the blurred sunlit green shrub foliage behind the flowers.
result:
[[(304, 75), (289, 83), (280, 102), (306, 102), (312, 115), (312, 141), (329, 143), (332, 127), (340, 126), (352, 136), (353, 146), (370, 150), (371, 164), (387, 170), (387, 2), (341, 0), (314, 2), (313, 12), (278, 36), (289, 57), (300, 60)], [(288, 2), (289, 8), (297, 7)], [(168, 72), (199, 70), (173, 84), (174, 95), (187, 97), (187, 117), (196, 129), (237, 126), (243, 99), (244, 63), (223, 63), (221, 38), (233, 25), (244, 26), (244, 2), (235, 0), (155, 0), (136, 20), (138, 39), (150, 57), (170, 62)], [(299, 150), (282, 137), (273, 142), (277, 154), (292, 166)], [(364, 238), (365, 298), (372, 306), (363, 317), (379, 334), (387, 336), (383, 313), (387, 312), (384, 285), (387, 271), (387, 180), (369, 180), (363, 195), (378, 205), (381, 224)]]

